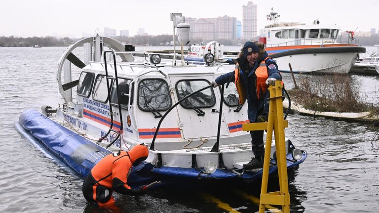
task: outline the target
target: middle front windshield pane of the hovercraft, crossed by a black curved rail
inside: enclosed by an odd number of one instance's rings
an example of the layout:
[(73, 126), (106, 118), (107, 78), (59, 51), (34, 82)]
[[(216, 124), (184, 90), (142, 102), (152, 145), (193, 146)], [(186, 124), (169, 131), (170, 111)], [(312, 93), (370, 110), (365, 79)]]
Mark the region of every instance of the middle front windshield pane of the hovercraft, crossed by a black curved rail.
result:
[[(178, 99), (182, 99), (184, 96), (208, 86), (210, 82), (205, 79), (201, 80), (183, 80), (176, 83), (176, 93)], [(180, 103), (183, 108), (193, 109), (193, 108), (208, 108), (216, 104), (216, 96), (213, 92), (213, 88), (205, 89), (201, 92), (197, 92), (185, 99)]]

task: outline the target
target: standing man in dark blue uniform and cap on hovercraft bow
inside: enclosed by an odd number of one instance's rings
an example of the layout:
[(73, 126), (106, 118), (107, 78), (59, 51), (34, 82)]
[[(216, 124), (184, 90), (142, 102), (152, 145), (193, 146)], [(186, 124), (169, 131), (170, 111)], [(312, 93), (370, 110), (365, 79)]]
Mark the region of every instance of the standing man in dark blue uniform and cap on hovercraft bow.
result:
[[(247, 100), (249, 121), (255, 123), (267, 120), (270, 96), (267, 87), (281, 79), (278, 66), (265, 51), (265, 44), (246, 42), (238, 55), (235, 70), (218, 77), (212, 84), (217, 87), (228, 82), (235, 82), (240, 97), (239, 102), (243, 104), (245, 100), (241, 99)], [(262, 168), (265, 154), (263, 130), (250, 131), (250, 134), (254, 158), (243, 165), (246, 170)]]

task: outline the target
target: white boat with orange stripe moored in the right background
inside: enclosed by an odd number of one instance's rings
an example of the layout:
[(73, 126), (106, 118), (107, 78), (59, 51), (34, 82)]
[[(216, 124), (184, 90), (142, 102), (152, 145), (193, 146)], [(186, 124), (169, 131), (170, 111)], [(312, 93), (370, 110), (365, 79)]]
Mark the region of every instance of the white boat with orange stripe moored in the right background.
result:
[[(307, 25), (297, 22), (278, 23), (277, 12), (271, 10), (265, 26), (266, 51), (282, 72), (348, 73), (366, 48), (355, 44), (353, 32), (346, 42), (341, 41), (341, 29), (336, 25), (320, 24), (318, 20)], [(340, 41), (339, 41), (340, 39)]]

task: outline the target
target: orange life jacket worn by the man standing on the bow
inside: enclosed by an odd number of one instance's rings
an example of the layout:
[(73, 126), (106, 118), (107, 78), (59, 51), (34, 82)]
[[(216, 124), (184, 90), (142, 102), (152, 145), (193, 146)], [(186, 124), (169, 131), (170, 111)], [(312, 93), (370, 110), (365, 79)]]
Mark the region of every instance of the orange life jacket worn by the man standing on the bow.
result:
[[(270, 57), (266, 57), (265, 60), (263, 60), (261, 64), (259, 65), (259, 67), (255, 70), (255, 75), (257, 76), (255, 85), (256, 85), (258, 100), (263, 97), (263, 94), (265, 94), (268, 88), (268, 85), (266, 85), (266, 80), (268, 78), (266, 60), (268, 58)], [(241, 72), (241, 68), (239, 67), (237, 63), (234, 68), (234, 79), (235, 79), (234, 83), (239, 95), (238, 103), (242, 105), (246, 101), (246, 94), (245, 94), (246, 88), (241, 82), (241, 78), (239, 76), (240, 72)], [(283, 85), (283, 81), (281, 84)]]

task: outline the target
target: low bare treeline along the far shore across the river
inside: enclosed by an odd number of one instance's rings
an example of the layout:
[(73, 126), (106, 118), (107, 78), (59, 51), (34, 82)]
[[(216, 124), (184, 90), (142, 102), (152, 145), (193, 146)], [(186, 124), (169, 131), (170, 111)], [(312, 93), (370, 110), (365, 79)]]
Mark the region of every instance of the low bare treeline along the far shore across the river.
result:
[[(149, 46), (163, 46), (163, 45), (172, 45), (172, 35), (138, 35), (133, 37), (125, 37), (125, 36), (116, 36), (112, 37), (119, 42), (122, 43), (130, 43), (134, 45), (149, 45)], [(379, 34), (372, 35), (371, 37), (355, 37), (355, 39), (359, 39), (359, 44), (363, 46), (372, 46), (374, 44), (379, 44)], [(80, 39), (77, 38), (57, 38), (52, 36), (46, 37), (0, 37), (0, 47), (17, 47), (17, 46), (33, 46), (38, 44), (39, 46), (68, 46), (77, 42)], [(259, 40), (259, 38), (255, 38), (253, 40)], [(346, 41), (347, 37), (342, 35), (341, 41)], [(241, 43), (246, 42), (247, 40), (219, 40), (217, 42), (224, 45), (240, 45)], [(201, 38), (192, 38), (191, 43), (207, 43), (210, 41), (204, 41)], [(338, 41), (337, 41), (338, 42)]]

